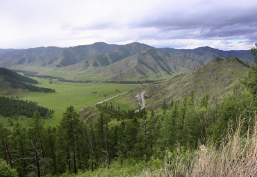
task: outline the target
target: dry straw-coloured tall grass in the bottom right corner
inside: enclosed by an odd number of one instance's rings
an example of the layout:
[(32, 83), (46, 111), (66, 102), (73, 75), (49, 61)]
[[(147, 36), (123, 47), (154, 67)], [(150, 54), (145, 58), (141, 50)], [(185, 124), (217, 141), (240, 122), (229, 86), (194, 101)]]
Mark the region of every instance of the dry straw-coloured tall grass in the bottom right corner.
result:
[(222, 140), (217, 150), (212, 144), (200, 146), (188, 176), (257, 176), (257, 117), (254, 128), (240, 136), (242, 122), (235, 133)]

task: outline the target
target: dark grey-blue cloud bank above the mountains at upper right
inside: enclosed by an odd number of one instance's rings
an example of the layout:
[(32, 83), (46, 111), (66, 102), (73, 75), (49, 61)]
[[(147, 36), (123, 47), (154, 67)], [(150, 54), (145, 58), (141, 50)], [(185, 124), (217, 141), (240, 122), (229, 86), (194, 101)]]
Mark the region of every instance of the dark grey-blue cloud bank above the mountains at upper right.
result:
[(168, 35), (169, 39), (197, 38), (197, 39), (231, 39), (233, 37), (257, 40), (257, 6), (249, 6), (247, 10), (219, 9), (214, 6), (208, 12), (187, 12), (169, 15), (169, 12), (157, 18), (142, 20), (136, 27), (156, 27), (160, 33), (177, 33)]

